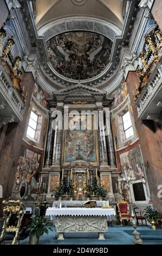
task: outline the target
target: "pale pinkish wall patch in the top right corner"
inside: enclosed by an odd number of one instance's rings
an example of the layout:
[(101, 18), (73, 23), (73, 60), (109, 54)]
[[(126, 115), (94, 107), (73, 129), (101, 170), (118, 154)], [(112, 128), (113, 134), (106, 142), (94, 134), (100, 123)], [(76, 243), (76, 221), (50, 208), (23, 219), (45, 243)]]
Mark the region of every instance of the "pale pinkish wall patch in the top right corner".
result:
[(161, 19), (161, 13), (162, 13), (162, 1), (161, 0), (154, 0), (154, 4), (151, 10), (151, 13), (154, 17), (154, 20), (158, 23), (161, 31), (162, 31), (162, 19)]

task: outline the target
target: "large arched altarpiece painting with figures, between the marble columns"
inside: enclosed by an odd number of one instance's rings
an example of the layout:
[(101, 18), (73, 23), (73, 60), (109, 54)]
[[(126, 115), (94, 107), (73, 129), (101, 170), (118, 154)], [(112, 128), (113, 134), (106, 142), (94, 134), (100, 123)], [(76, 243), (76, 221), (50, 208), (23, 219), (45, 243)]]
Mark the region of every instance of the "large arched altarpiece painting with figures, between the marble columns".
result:
[(88, 127), (87, 116), (69, 117), (69, 123), (74, 123), (75, 129), (65, 131), (64, 162), (96, 162), (94, 116), (90, 118), (92, 125)]

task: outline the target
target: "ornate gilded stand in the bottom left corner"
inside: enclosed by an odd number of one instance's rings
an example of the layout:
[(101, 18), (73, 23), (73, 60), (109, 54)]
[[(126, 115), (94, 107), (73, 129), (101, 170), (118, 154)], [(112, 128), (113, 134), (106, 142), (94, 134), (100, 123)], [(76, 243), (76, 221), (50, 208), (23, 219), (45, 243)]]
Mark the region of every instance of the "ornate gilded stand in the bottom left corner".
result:
[[(12, 240), (12, 245), (19, 243), (19, 235), (20, 235), (20, 226), (24, 216), (24, 211), (26, 209), (25, 205), (20, 202), (20, 200), (12, 201), (3, 200), (3, 227), (0, 236), (0, 242), (5, 243), (5, 233), (7, 232), (15, 232), (14, 239)], [(16, 215), (17, 224), (8, 226), (9, 220), (12, 215)]]

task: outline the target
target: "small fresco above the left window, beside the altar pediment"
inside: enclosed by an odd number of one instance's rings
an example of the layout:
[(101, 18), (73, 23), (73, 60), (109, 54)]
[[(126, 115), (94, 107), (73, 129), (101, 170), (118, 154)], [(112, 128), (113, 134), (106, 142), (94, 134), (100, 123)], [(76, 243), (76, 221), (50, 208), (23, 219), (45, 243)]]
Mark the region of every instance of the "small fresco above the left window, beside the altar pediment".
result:
[(34, 99), (40, 103), (43, 107), (47, 107), (47, 97), (49, 97), (48, 93), (41, 89), (38, 84), (35, 83), (34, 89), (33, 89), (33, 97)]

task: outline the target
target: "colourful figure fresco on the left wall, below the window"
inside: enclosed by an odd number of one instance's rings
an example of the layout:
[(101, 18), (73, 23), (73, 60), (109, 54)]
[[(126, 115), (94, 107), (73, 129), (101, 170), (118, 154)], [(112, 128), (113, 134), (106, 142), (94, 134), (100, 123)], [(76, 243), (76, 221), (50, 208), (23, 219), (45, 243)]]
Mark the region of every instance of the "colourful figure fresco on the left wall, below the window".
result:
[(12, 198), (35, 199), (37, 176), (40, 171), (41, 155), (22, 147), (17, 162)]

